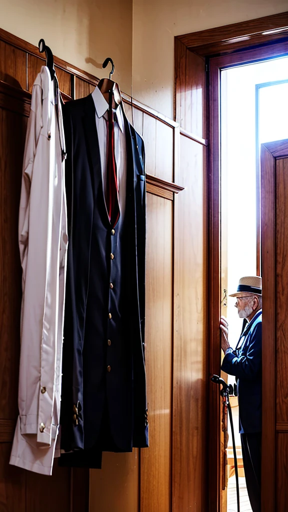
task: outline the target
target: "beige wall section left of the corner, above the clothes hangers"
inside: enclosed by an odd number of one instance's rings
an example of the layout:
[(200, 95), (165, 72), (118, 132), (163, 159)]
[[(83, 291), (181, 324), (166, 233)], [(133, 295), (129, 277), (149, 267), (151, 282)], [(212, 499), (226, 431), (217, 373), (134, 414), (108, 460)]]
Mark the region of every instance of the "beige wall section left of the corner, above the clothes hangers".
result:
[(108, 76), (101, 66), (112, 57), (115, 80), (131, 94), (132, 2), (0, 0), (0, 28), (36, 46), (43, 37), (57, 57), (99, 78)]

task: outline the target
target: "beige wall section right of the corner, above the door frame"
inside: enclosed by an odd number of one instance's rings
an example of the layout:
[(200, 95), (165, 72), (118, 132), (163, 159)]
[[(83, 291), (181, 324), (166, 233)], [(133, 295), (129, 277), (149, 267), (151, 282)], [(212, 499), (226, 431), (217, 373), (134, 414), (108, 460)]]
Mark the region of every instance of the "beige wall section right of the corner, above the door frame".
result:
[(133, 0), (133, 96), (173, 117), (175, 35), (287, 10), (287, 0)]

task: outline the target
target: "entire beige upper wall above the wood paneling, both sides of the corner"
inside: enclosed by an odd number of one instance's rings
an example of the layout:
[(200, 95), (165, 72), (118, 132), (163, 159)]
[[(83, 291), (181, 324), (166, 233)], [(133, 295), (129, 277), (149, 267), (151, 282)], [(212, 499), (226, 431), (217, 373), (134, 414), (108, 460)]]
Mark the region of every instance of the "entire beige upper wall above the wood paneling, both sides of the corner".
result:
[(111, 56), (122, 91), (173, 117), (175, 35), (287, 8), (287, 0), (0, 0), (0, 27), (34, 45), (44, 37), (99, 78)]

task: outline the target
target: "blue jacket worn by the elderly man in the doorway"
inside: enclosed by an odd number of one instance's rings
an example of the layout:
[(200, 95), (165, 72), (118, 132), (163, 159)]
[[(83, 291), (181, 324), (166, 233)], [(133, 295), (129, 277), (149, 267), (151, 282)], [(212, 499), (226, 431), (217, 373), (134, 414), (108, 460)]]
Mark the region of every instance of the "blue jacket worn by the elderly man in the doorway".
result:
[(225, 352), (221, 369), (237, 379), (240, 434), (262, 430), (262, 310), (240, 336), (236, 350)]

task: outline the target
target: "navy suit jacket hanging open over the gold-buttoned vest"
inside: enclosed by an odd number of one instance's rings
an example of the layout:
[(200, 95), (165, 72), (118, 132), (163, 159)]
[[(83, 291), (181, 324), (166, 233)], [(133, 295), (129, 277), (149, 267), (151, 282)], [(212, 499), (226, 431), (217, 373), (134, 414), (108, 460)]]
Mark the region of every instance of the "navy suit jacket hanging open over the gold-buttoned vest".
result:
[[(95, 105), (91, 94), (64, 106), (65, 139), (67, 147), (66, 193), (68, 210), (68, 262), (63, 346), (63, 380), (61, 401), (61, 447), (69, 452), (84, 447), (83, 359), (86, 305), (89, 286), (91, 233), (95, 198), (91, 183), (100, 176), (100, 154), (95, 122)], [(127, 204), (131, 237), (126, 258), (130, 262), (130, 281), (127, 300), (130, 305), (129, 332), (131, 393), (133, 418), (127, 420), (122, 412), (113, 420), (118, 437), (131, 437), (135, 447), (148, 446), (148, 411), (146, 405), (145, 375), (145, 238), (146, 185), (144, 145), (125, 116), (127, 144)], [(129, 293), (128, 293), (129, 292)], [(129, 360), (130, 360), (129, 359)], [(118, 383), (121, 392), (121, 382)], [(116, 404), (117, 405), (117, 404)], [(76, 407), (77, 406), (77, 407)], [(91, 403), (91, 408), (95, 403)], [(75, 409), (76, 408), (76, 409)], [(73, 414), (80, 413), (77, 424)], [(116, 410), (116, 406), (115, 406)], [(111, 420), (112, 421), (112, 420)], [(120, 429), (120, 426), (121, 429)], [(132, 439), (133, 436), (133, 439)], [(86, 436), (87, 437), (87, 436)], [(123, 441), (122, 444), (125, 444)], [(127, 443), (126, 443), (127, 444)], [(129, 450), (127, 450), (129, 451)]]

